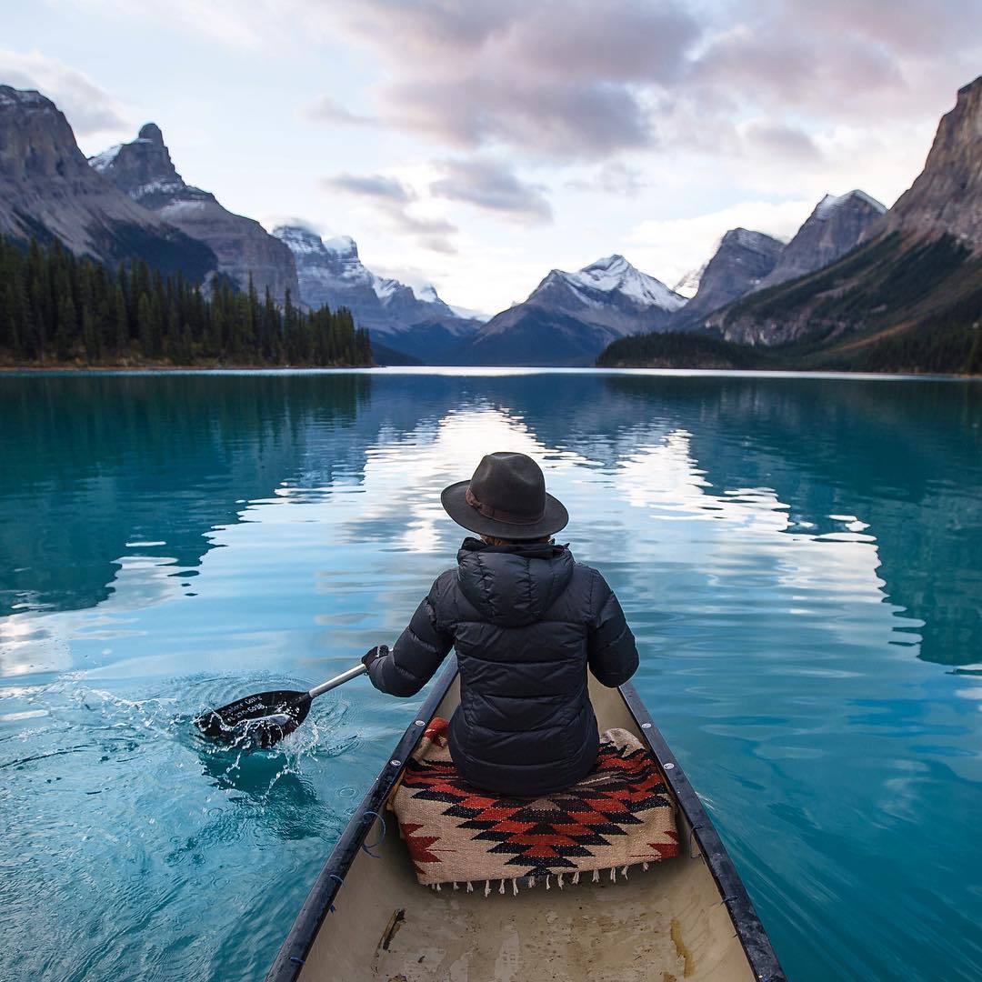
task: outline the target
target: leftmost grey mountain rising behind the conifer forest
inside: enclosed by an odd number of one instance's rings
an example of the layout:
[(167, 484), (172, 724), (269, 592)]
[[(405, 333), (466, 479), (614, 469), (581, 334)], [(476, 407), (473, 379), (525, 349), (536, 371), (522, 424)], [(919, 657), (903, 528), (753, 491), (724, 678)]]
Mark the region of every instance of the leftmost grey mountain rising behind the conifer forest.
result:
[(217, 266), (208, 246), (92, 171), (50, 99), (10, 85), (0, 85), (0, 233), (57, 238), (73, 252), (110, 264), (140, 256), (195, 281)]

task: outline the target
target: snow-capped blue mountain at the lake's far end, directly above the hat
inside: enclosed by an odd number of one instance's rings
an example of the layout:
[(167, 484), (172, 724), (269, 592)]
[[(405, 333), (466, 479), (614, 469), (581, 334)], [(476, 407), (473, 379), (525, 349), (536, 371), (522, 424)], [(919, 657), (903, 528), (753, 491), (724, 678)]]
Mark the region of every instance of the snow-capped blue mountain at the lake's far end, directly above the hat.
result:
[(592, 364), (614, 339), (663, 328), (684, 303), (623, 255), (611, 255), (575, 273), (552, 270), (455, 355), (462, 364)]

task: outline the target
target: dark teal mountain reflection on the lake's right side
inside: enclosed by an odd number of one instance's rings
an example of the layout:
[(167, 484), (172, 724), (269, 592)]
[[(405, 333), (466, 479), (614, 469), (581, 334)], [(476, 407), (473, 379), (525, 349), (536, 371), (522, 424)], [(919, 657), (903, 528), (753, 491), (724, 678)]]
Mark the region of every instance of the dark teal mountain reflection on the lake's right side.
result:
[[(945, 665), (977, 660), (982, 624), (968, 627), (953, 613), (955, 597), (962, 597), (962, 611), (970, 609), (982, 589), (977, 576), (963, 579), (977, 566), (982, 543), (980, 387), (753, 378), (659, 378), (653, 387), (624, 376), (606, 382), (635, 403), (625, 418), (672, 413), (691, 432), (692, 453), (714, 486), (773, 488), (791, 518), (811, 523), (816, 534), (833, 530), (831, 516), (868, 523), (884, 592), (925, 621), (921, 657)], [(955, 463), (964, 469), (952, 473)]]

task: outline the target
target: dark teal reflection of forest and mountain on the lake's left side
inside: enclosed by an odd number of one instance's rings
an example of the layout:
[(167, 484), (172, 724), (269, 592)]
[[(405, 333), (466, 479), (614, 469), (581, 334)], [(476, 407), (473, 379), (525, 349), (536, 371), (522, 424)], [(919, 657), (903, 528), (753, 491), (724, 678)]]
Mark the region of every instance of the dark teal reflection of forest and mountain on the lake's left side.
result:
[(0, 614), (91, 607), (135, 551), (198, 566), (210, 529), (297, 469), (305, 429), (350, 426), (367, 395), (358, 375), (5, 380)]

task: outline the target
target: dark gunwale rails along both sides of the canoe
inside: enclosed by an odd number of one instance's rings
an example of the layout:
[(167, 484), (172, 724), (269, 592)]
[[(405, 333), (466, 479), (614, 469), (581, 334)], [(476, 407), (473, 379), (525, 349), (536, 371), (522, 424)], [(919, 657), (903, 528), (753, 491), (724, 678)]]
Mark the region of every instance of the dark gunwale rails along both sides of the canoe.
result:
[[(415, 719), (429, 722), (456, 678), (457, 659), (452, 656), (450, 664), (440, 674), (429, 695), (419, 707)], [(758, 982), (787, 982), (770, 939), (727, 853), (726, 846), (720, 840), (698, 795), (688, 783), (682, 765), (676, 760), (665, 737), (655, 726), (634, 686), (627, 682), (620, 686), (620, 692), (631, 717), (637, 724), (639, 733), (658, 761), (669, 788), (691, 827), (691, 840), (699, 846), (703, 861), (709, 868), (723, 898), (721, 902), (727, 906), (736, 936), (755, 978)], [(358, 849), (364, 845), (369, 829), (382, 814), (389, 795), (403, 775), (406, 760), (416, 748), (424, 730), (425, 727), (416, 726), (415, 722), (410, 723), (406, 733), (396, 744), (392, 757), (362, 798), (310, 888), (290, 933), (270, 966), (265, 982), (296, 982), (321, 925), (344, 884), (348, 870), (355, 861)], [(666, 764), (672, 766), (666, 768)], [(687, 844), (681, 845), (684, 848)]]

